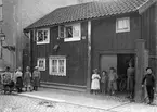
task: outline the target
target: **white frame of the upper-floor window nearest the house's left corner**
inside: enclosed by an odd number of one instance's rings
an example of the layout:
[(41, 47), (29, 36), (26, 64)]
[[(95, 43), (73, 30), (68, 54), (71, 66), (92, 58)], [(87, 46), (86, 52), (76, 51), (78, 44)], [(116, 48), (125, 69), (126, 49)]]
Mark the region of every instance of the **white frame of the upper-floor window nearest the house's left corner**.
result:
[[(38, 32), (39, 32), (39, 30), (43, 30), (43, 32), (47, 30), (47, 32), (48, 32), (48, 39), (47, 39), (47, 40), (43, 40), (43, 41), (41, 41), (41, 42), (38, 41)], [(37, 30), (36, 30), (36, 37), (37, 37), (37, 38), (36, 38), (36, 39), (37, 39), (37, 45), (50, 43), (50, 28), (40, 28), (40, 29), (37, 29)]]

